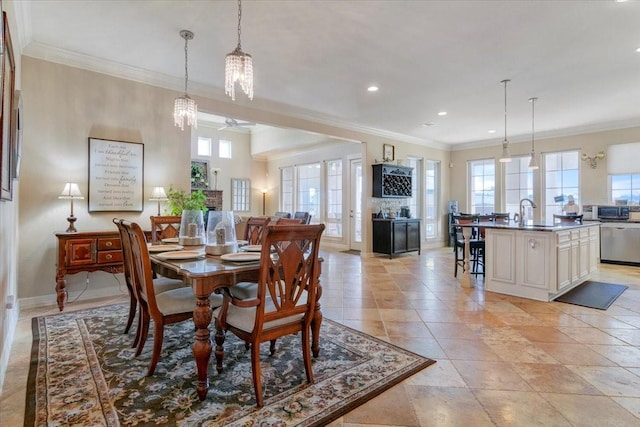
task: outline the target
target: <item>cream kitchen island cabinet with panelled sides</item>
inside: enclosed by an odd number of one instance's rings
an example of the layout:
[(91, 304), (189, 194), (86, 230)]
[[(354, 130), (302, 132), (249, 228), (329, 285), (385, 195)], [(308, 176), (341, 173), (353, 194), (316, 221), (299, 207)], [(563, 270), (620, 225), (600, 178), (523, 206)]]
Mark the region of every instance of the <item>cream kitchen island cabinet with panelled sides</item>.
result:
[(598, 268), (598, 224), (485, 229), (488, 291), (551, 301), (588, 280)]

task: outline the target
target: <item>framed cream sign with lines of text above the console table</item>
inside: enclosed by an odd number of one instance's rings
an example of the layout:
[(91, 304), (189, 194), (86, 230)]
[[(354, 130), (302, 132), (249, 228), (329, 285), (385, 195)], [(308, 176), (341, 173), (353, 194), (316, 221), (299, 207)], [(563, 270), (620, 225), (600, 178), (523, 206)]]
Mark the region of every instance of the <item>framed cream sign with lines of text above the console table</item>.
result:
[(144, 144), (89, 137), (89, 212), (144, 210)]

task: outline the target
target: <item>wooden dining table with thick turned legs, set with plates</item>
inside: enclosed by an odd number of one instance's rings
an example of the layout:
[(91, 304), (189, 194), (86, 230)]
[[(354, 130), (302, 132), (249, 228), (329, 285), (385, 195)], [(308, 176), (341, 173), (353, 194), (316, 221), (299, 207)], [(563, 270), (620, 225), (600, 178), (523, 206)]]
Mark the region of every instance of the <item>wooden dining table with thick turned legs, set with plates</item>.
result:
[[(186, 249), (186, 248), (185, 248)], [(260, 261), (225, 261), (220, 255), (209, 255), (205, 247), (190, 247), (189, 251), (197, 252), (197, 256), (187, 259), (172, 257), (167, 259), (162, 252), (151, 252), (151, 265), (155, 273), (165, 277), (182, 278), (191, 285), (195, 294), (193, 322), (196, 327), (193, 343), (193, 355), (198, 371), (196, 390), (200, 400), (205, 400), (209, 391), (208, 367), (212, 352), (212, 341), (209, 325), (213, 317), (213, 310), (209, 297), (214, 292), (221, 292), (223, 288), (230, 288), (240, 282), (257, 282), (260, 271)], [(176, 254), (177, 255), (177, 254)], [(318, 275), (322, 260), (318, 262)], [(322, 323), (320, 297), (322, 286), (318, 285), (316, 312), (311, 321), (311, 349), (313, 356), (320, 352), (319, 335)], [(216, 355), (224, 354), (222, 344), (224, 334), (216, 330)], [(220, 352), (220, 353), (218, 353)], [(222, 371), (222, 357), (217, 358), (216, 370)]]

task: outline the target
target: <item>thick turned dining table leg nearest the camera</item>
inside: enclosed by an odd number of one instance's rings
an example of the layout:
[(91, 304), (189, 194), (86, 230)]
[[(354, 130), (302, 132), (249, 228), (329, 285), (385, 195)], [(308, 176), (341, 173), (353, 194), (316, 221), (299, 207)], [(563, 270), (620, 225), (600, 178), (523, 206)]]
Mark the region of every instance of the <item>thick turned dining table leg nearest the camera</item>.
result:
[(213, 317), (209, 295), (198, 295), (196, 308), (193, 310), (193, 323), (196, 325), (195, 342), (193, 343), (193, 356), (196, 359), (198, 369), (198, 385), (196, 390), (200, 400), (207, 398), (209, 391), (208, 365), (211, 357), (211, 339), (209, 325)]

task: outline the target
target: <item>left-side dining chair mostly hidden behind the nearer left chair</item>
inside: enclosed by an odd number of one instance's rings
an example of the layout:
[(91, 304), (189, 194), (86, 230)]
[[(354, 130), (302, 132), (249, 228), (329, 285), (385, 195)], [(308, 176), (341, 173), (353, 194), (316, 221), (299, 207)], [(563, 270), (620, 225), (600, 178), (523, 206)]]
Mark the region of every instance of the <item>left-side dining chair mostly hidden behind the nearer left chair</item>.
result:
[[(121, 220), (118, 218), (113, 219), (113, 223), (118, 228), (118, 232), (120, 233), (120, 242), (122, 246), (122, 264), (123, 264), (123, 273), (124, 273), (124, 281), (127, 286), (127, 291), (129, 292), (129, 317), (127, 318), (127, 324), (124, 328), (124, 334), (128, 334), (131, 329), (131, 325), (133, 324), (133, 319), (136, 316), (136, 312), (138, 310), (138, 295), (133, 284), (133, 277), (131, 274), (131, 269), (133, 268), (132, 263), (132, 255), (131, 255), (131, 242), (129, 240), (129, 235), (127, 230), (121, 224)], [(177, 289), (184, 287), (184, 282), (180, 279), (170, 279), (168, 277), (159, 277), (157, 279), (153, 279), (153, 287), (156, 293), (170, 291), (171, 289)], [(136, 347), (140, 340), (140, 321), (142, 319), (142, 314), (138, 316), (138, 328), (136, 329), (136, 336), (133, 340), (132, 347)]]

